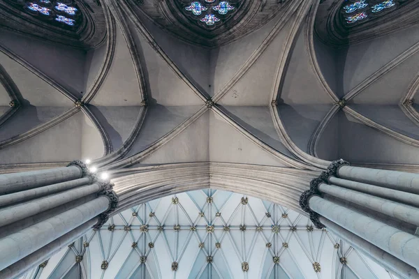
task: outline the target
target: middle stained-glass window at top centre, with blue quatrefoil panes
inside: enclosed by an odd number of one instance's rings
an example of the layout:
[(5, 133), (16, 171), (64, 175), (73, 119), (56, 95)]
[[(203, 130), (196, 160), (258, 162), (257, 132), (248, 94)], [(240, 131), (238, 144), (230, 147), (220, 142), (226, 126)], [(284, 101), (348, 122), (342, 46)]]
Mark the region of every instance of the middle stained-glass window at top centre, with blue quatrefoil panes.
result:
[[(233, 3), (234, 1), (234, 3)], [(182, 11), (191, 19), (203, 22), (205, 27), (221, 24), (238, 8), (237, 0), (199, 0), (187, 2)]]

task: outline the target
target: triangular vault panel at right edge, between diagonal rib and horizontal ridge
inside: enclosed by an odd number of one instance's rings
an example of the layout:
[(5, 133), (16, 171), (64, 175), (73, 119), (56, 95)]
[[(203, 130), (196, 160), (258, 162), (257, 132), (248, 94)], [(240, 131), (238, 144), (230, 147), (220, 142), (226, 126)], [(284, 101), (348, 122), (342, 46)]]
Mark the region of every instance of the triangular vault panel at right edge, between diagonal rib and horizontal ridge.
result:
[(395, 105), (419, 74), (419, 52), (381, 76), (361, 91), (351, 102), (357, 104)]

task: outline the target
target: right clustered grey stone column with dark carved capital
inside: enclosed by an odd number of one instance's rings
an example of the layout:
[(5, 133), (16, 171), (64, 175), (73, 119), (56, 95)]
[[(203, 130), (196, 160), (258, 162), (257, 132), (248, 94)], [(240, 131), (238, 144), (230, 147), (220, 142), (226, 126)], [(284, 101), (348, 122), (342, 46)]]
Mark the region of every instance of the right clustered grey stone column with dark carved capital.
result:
[[(332, 162), (310, 183), (300, 206), (316, 227), (330, 227), (402, 278), (419, 278), (419, 175)], [(406, 224), (397, 226), (395, 224)], [(382, 251), (385, 254), (379, 253)]]

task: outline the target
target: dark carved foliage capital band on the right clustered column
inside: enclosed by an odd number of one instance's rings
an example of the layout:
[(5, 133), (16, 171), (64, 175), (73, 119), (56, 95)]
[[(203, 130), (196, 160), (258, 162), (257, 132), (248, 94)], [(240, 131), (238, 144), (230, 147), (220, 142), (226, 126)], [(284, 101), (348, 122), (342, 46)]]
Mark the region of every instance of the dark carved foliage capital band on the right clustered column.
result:
[(318, 228), (323, 229), (325, 225), (323, 225), (320, 220), (318, 219), (320, 215), (316, 213), (315, 211), (312, 211), (309, 206), (309, 200), (311, 197), (314, 196), (320, 196), (322, 197), (322, 193), (320, 190), (318, 190), (318, 186), (321, 183), (329, 183), (329, 177), (335, 176), (337, 177), (337, 173), (339, 172), (339, 167), (344, 165), (350, 165), (348, 162), (346, 162), (343, 159), (334, 160), (332, 163), (330, 163), (328, 169), (326, 169), (324, 172), (321, 172), (321, 174), (318, 176), (318, 178), (312, 179), (310, 181), (310, 188), (309, 190), (304, 191), (300, 197), (300, 207), (303, 211), (309, 213), (309, 217), (311, 222)]

